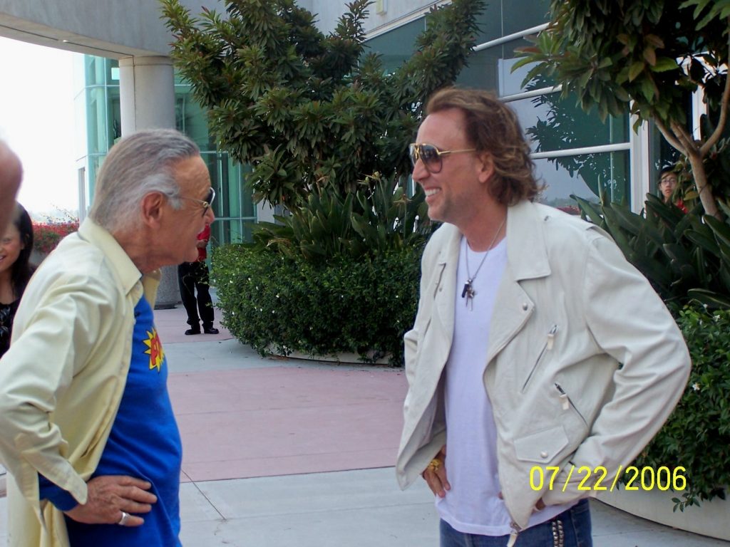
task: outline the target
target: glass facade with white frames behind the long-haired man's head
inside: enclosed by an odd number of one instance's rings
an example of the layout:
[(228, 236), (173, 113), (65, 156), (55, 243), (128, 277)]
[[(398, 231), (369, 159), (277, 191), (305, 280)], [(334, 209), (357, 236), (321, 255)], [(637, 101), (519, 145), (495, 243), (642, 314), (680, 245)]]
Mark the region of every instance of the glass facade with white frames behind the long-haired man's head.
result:
[[(345, 12), (331, 0), (311, 0), (321, 30), (331, 31)], [(426, 28), (429, 12), (445, 1), (377, 0), (365, 22), (367, 44), (395, 69), (414, 53), (415, 38)], [(523, 82), (529, 66), (512, 71), (515, 50), (526, 47), (527, 36), (547, 26), (549, 0), (489, 0), (480, 15), (475, 53), (457, 85), (491, 90), (512, 106), (528, 139), (537, 176), (545, 184), (542, 199), (549, 205), (574, 209), (577, 195), (597, 201), (607, 195), (639, 212), (645, 194), (656, 191), (658, 171), (676, 159), (666, 141), (650, 124), (638, 133), (628, 113), (602, 123), (596, 111), (585, 113), (575, 97), (561, 98), (561, 88), (545, 77)], [(692, 106), (701, 109), (699, 97)], [(699, 120), (699, 115), (695, 119)]]

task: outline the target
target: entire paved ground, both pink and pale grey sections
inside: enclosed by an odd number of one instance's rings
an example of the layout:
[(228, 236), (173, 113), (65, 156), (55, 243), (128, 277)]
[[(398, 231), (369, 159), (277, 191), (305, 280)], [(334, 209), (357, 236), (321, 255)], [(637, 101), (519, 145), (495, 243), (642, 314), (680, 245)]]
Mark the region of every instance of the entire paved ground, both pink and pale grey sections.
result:
[[(185, 336), (182, 308), (155, 323), (183, 437), (183, 545), (438, 546), (432, 495), (422, 481), (401, 492), (391, 467), (403, 371), (261, 357), (223, 328)], [(730, 546), (592, 512), (596, 547)], [(0, 500), (0, 543), (6, 515)]]

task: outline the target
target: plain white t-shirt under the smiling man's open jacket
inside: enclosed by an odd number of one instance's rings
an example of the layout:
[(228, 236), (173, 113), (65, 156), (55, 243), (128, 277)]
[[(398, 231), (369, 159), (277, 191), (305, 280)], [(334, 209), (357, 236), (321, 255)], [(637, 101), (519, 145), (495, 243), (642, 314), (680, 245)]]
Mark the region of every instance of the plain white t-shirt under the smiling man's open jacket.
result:
[[(475, 296), (461, 297), (466, 275), (466, 252)], [(494, 300), (507, 266), (507, 238), (488, 251), (467, 249), (461, 238), (456, 273), (456, 313), (451, 352), (446, 362), (446, 476), (451, 489), (436, 497), (442, 519), (467, 534), (507, 535), (512, 532), (510, 514), (499, 499), (496, 427), (492, 406), (484, 388), (489, 328)], [(525, 485), (529, 477), (525, 477)], [(572, 505), (572, 504), (571, 504)], [(533, 513), (529, 526), (552, 519), (570, 505), (553, 505)]]

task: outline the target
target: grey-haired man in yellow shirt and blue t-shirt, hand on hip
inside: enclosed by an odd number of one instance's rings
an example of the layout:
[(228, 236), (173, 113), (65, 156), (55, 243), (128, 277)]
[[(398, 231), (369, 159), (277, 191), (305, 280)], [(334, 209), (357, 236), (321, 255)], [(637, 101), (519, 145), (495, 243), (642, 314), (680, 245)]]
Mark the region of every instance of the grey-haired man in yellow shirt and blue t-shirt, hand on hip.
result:
[(158, 268), (196, 259), (214, 196), (193, 141), (127, 136), (89, 218), (28, 284), (0, 362), (9, 545), (180, 545), (182, 449), (152, 310)]

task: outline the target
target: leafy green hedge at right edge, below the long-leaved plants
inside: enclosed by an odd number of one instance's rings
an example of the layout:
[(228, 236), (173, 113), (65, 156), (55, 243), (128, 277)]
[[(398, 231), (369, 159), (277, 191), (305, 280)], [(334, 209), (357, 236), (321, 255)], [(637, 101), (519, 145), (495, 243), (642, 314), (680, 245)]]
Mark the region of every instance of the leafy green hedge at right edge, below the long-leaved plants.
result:
[(692, 372), (679, 404), (636, 465), (686, 469), (687, 489), (675, 510), (725, 499), (730, 485), (730, 310), (702, 306), (680, 312)]

